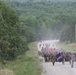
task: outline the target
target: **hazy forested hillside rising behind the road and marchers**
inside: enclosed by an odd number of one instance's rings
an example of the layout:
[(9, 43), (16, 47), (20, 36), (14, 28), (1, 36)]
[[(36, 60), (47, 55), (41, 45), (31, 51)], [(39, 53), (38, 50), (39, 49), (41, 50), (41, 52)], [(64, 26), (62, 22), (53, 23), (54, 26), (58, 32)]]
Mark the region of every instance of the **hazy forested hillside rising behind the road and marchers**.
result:
[(15, 1), (9, 5), (17, 11), (21, 22), (32, 29), (32, 40), (75, 41), (76, 2)]

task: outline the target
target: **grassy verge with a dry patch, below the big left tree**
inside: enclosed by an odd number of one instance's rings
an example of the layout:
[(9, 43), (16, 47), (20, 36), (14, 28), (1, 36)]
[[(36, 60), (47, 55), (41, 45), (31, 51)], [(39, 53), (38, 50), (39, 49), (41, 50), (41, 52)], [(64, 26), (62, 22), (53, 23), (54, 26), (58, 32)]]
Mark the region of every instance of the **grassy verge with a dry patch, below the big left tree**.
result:
[(36, 43), (30, 43), (29, 48), (26, 55), (19, 56), (16, 61), (6, 65), (0, 63), (0, 75), (41, 75)]

